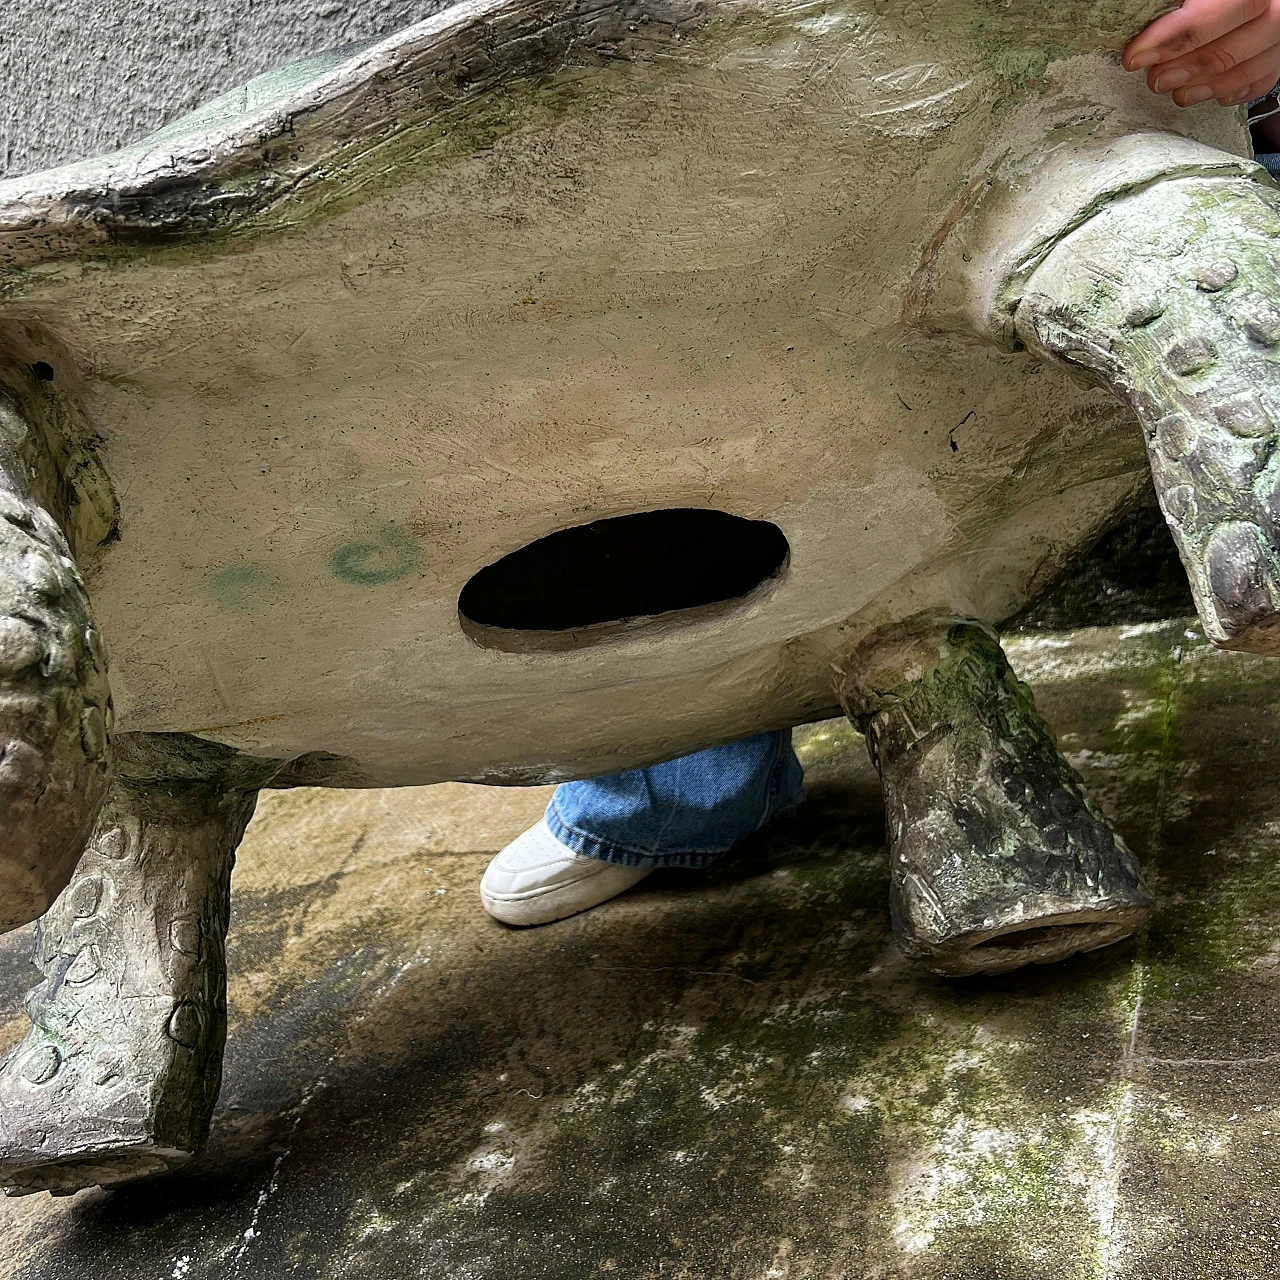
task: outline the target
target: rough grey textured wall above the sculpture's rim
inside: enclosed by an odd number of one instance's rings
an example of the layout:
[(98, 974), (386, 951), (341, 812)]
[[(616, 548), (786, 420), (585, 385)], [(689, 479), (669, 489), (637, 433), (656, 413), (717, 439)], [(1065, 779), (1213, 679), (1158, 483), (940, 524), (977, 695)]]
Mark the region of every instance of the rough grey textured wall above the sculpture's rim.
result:
[(0, 0), (0, 177), (110, 151), (445, 0)]

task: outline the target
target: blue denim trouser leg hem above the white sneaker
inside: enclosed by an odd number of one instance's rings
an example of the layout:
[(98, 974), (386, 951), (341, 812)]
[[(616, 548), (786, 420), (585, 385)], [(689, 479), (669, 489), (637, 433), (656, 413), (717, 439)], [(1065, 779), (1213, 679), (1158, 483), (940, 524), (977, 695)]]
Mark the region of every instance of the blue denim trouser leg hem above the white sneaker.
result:
[(648, 769), (566, 782), (547, 826), (588, 858), (623, 867), (707, 867), (804, 800), (791, 731), (682, 755)]

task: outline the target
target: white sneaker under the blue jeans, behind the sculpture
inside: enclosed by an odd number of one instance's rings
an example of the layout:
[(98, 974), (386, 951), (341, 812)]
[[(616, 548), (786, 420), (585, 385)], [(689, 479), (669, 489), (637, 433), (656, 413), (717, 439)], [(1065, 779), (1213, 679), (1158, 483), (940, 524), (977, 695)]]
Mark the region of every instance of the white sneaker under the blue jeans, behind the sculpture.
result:
[(485, 868), (480, 901), (503, 924), (550, 924), (617, 897), (650, 869), (575, 854), (543, 820), (517, 836)]

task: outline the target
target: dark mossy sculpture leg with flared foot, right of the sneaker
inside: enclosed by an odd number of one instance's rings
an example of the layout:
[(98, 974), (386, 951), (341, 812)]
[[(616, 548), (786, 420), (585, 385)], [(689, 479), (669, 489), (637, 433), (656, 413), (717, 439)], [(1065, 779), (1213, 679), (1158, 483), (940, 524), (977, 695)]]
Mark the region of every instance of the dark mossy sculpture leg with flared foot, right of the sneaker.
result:
[(884, 788), (902, 951), (936, 973), (1005, 973), (1128, 937), (1153, 905), (1137, 861), (1000, 644), (959, 623), (936, 649), (919, 678), (846, 700)]

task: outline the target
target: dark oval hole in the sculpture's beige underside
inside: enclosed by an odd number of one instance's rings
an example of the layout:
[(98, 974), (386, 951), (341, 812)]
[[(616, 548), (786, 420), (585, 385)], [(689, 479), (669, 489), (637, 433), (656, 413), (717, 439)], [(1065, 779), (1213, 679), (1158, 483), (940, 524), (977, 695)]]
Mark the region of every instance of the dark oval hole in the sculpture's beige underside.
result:
[(675, 508), (562, 529), (480, 570), (458, 609), (484, 626), (570, 631), (746, 595), (787, 558), (777, 525)]

